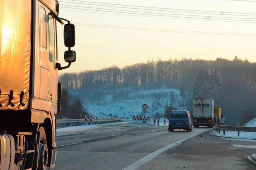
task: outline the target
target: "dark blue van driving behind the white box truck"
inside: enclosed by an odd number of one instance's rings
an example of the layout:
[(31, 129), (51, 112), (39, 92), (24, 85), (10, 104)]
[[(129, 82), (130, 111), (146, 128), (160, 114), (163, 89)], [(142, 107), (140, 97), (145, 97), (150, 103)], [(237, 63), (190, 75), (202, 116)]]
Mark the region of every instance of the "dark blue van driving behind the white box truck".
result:
[(192, 121), (191, 121), (189, 111), (187, 110), (171, 111), (168, 130), (172, 132), (174, 129), (184, 129), (187, 132), (192, 131)]

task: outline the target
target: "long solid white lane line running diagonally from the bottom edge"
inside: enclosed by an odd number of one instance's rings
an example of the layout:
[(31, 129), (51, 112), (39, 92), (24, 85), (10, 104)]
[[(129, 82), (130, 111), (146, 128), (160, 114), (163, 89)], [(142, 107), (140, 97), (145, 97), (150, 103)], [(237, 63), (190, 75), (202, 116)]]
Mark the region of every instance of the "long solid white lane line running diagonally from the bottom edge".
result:
[(133, 164), (130, 164), (129, 166), (126, 166), (124, 169), (122, 170), (136, 170), (138, 169), (141, 165), (145, 164), (146, 162), (152, 160), (153, 158), (155, 158), (156, 156), (158, 156), (159, 154), (165, 152), (166, 150), (168, 149), (171, 149), (172, 147), (175, 147), (176, 145), (178, 144), (181, 144), (182, 142), (184, 141), (187, 141), (188, 139), (191, 139), (192, 137), (195, 137), (201, 133), (204, 133), (206, 131), (210, 131), (214, 128), (211, 128), (211, 129), (207, 129), (207, 130), (204, 130), (204, 131), (201, 131), (201, 132), (198, 132), (198, 133), (195, 133), (194, 135), (190, 135), (189, 137), (186, 137), (178, 142), (175, 142), (175, 143), (172, 143), (170, 145), (167, 145), (159, 150), (156, 150), (155, 152), (151, 153), (151, 154), (148, 154), (147, 156), (141, 158), (140, 160), (137, 160), (136, 162), (134, 162)]

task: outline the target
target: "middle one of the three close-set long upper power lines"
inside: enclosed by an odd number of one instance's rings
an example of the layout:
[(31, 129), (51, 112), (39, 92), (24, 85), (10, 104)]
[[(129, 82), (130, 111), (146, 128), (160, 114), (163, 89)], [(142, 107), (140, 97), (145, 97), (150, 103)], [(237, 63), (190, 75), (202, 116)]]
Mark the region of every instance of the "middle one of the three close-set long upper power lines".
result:
[[(137, 12), (137, 13), (145, 13), (145, 14), (164, 14), (164, 15), (174, 15), (174, 16), (193, 16), (193, 17), (205, 17), (205, 18), (230, 18), (230, 19), (244, 19), (244, 20), (251, 20), (255, 18), (237, 18), (237, 17), (221, 17), (221, 16), (200, 16), (200, 15), (191, 15), (191, 14), (171, 14), (171, 13), (159, 13), (159, 12), (144, 12), (144, 11), (132, 11), (132, 10), (117, 10), (117, 9), (108, 9), (108, 8), (94, 8), (94, 7), (87, 7), (87, 6), (80, 6), (79, 8), (74, 5), (64, 5), (61, 6), (62, 8), (73, 8), (73, 9), (82, 9), (82, 10), (87, 10), (86, 8), (89, 9), (97, 9), (97, 10), (112, 10), (112, 11), (122, 11), (122, 12)], [(76, 7), (76, 8), (74, 8)], [(256, 21), (256, 20), (255, 20)]]

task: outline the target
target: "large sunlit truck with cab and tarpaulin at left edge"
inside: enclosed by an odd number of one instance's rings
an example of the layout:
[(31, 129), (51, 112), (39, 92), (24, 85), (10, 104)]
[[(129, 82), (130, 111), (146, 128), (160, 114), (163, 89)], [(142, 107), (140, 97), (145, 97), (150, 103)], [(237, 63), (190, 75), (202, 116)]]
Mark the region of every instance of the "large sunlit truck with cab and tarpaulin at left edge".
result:
[[(57, 0), (0, 0), (0, 170), (55, 166), (58, 70), (76, 61), (75, 27), (58, 14)], [(63, 67), (57, 22), (66, 22)]]

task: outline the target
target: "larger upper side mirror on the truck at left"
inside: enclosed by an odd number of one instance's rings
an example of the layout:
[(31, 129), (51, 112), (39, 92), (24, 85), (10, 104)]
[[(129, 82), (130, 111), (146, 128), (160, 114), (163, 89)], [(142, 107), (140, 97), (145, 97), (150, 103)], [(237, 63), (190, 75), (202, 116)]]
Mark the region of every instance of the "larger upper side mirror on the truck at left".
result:
[(67, 23), (64, 25), (64, 45), (68, 48), (74, 47), (75, 45), (75, 25)]

